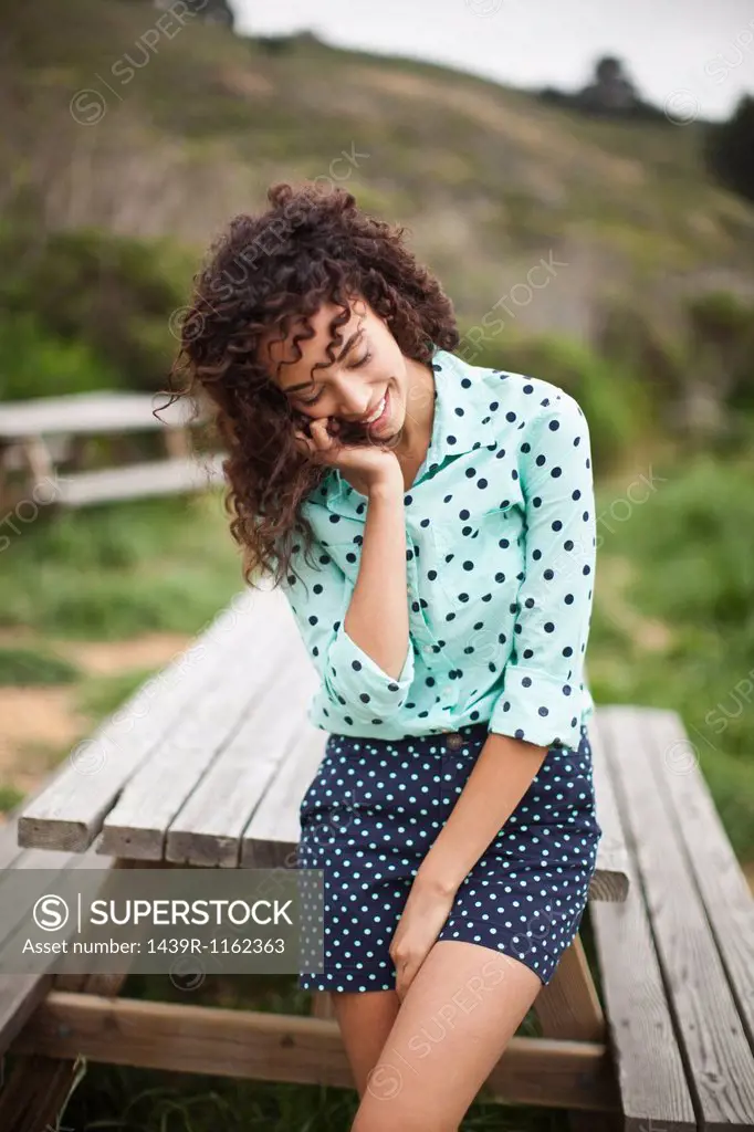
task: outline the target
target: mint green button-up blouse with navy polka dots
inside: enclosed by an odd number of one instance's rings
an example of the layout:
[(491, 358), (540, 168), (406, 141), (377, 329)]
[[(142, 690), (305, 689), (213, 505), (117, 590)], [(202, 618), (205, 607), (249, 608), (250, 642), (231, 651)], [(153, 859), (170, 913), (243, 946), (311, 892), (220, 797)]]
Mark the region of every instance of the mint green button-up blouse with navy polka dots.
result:
[[(584, 677), (596, 515), (590, 435), (541, 378), (436, 349), (432, 436), (404, 495), (410, 646), (388, 675), (343, 627), (368, 500), (332, 469), (302, 504), (316, 543), (282, 589), (320, 686), (325, 731), (400, 739), (487, 721), (575, 749), (593, 713)], [(297, 576), (298, 575), (298, 576)]]

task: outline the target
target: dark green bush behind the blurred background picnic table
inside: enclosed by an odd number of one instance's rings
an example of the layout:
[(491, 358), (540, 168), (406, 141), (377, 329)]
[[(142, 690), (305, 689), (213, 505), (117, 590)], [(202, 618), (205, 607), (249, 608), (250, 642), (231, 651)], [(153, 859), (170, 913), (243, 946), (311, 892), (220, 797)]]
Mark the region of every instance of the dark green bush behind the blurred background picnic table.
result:
[[(9, 265), (0, 277), (0, 308), (12, 324), (24, 324), (23, 350), (35, 355), (24, 365), (38, 366), (24, 395), (164, 386), (177, 348), (171, 314), (185, 305), (195, 266), (186, 252), (165, 240), (93, 229), (40, 235), (18, 226), (0, 230), (0, 257)], [(8, 338), (6, 328), (6, 349)], [(55, 370), (50, 351), (59, 351), (62, 369)], [(8, 372), (18, 396), (19, 381)]]

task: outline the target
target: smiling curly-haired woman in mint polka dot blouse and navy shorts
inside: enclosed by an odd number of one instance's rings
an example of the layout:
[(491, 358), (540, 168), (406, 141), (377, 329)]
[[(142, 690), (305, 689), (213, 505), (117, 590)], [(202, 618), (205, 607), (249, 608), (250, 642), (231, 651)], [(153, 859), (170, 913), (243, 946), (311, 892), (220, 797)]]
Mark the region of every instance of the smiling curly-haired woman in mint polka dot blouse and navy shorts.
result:
[(453, 307), (343, 189), (277, 185), (196, 277), (181, 354), (248, 581), (283, 586), (328, 732), (300, 807), (353, 1129), (456, 1129), (572, 943), (601, 829), (583, 660), (586, 420), (466, 363)]

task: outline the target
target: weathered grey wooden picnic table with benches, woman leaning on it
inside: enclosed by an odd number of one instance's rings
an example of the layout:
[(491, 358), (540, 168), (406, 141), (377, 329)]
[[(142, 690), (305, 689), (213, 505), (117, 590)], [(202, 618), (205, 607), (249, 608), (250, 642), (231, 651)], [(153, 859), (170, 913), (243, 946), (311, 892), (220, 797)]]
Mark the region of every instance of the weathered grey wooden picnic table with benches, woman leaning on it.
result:
[[(23, 804), (5, 867), (294, 867), (326, 741), (306, 715), (317, 679), (284, 595), (243, 591)], [(594, 1130), (754, 1129), (754, 906), (680, 720), (598, 706), (590, 739), (597, 967), (579, 934), (535, 1000), (541, 1036), (512, 1039), (486, 1096)], [(128, 1000), (125, 978), (0, 979), (0, 1050), (18, 1056), (0, 1127), (38, 1132), (79, 1055), (354, 1087), (326, 993), (307, 1018)]]

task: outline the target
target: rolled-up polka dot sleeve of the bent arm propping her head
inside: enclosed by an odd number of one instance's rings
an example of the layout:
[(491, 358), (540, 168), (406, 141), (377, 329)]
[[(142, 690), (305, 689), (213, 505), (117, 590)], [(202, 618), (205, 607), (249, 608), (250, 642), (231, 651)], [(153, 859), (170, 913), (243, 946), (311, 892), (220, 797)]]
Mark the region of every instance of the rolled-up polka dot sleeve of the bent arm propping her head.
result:
[[(322, 679), (326, 698), (345, 710), (354, 723), (384, 720), (405, 703), (414, 677), (411, 640), (403, 668), (391, 676), (346, 633), (343, 620), (353, 595), (353, 583), (322, 544), (312, 557), (318, 569), (303, 560), (294, 547), (293, 573), (282, 584), (303, 644)], [(305, 584), (306, 583), (306, 586)]]

